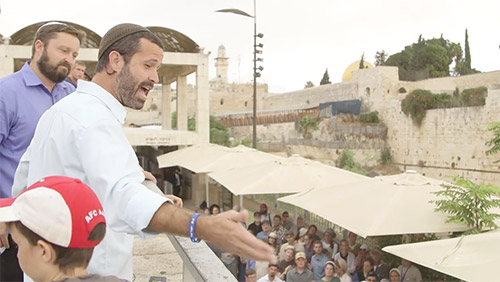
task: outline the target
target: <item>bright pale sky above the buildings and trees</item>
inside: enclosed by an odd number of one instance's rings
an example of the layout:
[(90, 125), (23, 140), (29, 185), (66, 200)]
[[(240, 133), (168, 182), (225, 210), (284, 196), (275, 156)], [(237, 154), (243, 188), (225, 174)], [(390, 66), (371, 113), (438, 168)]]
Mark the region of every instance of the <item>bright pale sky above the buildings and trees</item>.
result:
[[(210, 77), (219, 45), (229, 57), (229, 80), (250, 82), (253, 68), (253, 19), (215, 13), (237, 8), (253, 14), (252, 0), (0, 0), (0, 33), (45, 20), (75, 22), (101, 36), (112, 26), (132, 22), (177, 30), (211, 52)], [(270, 92), (319, 84), (326, 68), (340, 82), (345, 68), (359, 60), (374, 62), (376, 51), (389, 54), (424, 38), (465, 40), (469, 31), (472, 67), (499, 70), (498, 0), (257, 0), (257, 30), (264, 34), (259, 82)]]

